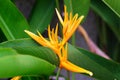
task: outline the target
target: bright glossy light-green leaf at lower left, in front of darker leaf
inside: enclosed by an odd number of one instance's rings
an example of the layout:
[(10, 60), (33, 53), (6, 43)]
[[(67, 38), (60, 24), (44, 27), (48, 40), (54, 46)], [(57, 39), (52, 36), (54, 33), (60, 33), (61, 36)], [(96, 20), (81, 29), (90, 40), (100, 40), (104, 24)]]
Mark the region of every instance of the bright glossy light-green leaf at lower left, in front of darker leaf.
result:
[(25, 75), (50, 75), (55, 66), (30, 55), (12, 55), (0, 58), (0, 78)]

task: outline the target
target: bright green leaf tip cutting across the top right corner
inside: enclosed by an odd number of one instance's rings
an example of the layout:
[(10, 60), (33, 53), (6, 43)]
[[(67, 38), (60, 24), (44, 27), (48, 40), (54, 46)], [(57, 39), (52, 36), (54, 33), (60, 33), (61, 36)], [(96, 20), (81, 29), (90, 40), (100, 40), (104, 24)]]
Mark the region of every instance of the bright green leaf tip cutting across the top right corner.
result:
[(120, 17), (120, 0), (102, 0), (118, 17)]

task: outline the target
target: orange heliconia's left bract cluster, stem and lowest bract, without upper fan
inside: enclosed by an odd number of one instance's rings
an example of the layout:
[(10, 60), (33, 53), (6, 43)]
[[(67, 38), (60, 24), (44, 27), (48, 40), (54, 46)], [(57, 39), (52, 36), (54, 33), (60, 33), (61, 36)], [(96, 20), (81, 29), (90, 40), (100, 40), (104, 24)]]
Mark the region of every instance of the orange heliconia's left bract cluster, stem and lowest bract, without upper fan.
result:
[(58, 38), (56, 36), (57, 33), (54, 33), (54, 29), (50, 33), (50, 29), (48, 27), (49, 40), (46, 40), (45, 38), (43, 38), (43, 36), (40, 33), (39, 33), (39, 36), (37, 36), (30, 31), (25, 30), (25, 32), (29, 36), (31, 36), (36, 42), (38, 42), (42, 46), (51, 48), (58, 55), (60, 59), (60, 65), (59, 65), (60, 68), (65, 68), (72, 72), (87, 73), (91, 76), (93, 75), (92, 72), (85, 70), (83, 68), (80, 68), (67, 60), (67, 44), (65, 48), (63, 45), (61, 45), (61, 42), (58, 41)]

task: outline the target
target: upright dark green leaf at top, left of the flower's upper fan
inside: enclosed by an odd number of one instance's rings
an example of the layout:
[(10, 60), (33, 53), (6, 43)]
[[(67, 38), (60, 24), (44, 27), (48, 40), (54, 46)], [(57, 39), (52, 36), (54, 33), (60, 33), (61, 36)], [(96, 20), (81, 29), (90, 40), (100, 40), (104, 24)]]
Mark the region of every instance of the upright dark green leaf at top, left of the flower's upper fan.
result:
[(29, 20), (31, 31), (39, 30), (42, 33), (50, 24), (54, 11), (54, 0), (37, 0)]

